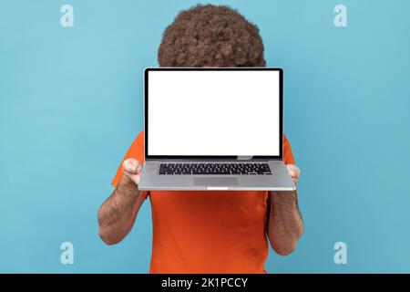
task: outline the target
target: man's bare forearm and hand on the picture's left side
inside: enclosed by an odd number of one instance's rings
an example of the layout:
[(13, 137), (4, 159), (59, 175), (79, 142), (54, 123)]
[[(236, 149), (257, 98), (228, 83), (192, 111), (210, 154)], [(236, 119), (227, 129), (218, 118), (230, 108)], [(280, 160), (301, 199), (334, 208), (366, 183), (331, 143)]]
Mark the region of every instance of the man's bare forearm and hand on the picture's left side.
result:
[(118, 244), (131, 230), (145, 199), (139, 197), (140, 162), (128, 159), (117, 188), (98, 211), (99, 236), (107, 245)]

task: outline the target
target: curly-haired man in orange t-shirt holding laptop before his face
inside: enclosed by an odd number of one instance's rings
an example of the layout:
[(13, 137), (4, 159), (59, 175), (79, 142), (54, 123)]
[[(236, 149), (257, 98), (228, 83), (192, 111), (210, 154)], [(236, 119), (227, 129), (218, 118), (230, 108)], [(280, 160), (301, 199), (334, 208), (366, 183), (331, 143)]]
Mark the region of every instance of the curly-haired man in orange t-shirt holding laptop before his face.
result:
[[(194, 6), (165, 30), (159, 65), (264, 67), (259, 29), (229, 7)], [(267, 238), (280, 255), (296, 248), (303, 231), (296, 192), (139, 192), (143, 145), (141, 132), (118, 168), (115, 191), (98, 212), (99, 235), (106, 244), (128, 235), (149, 195), (151, 273), (265, 273)], [(300, 171), (286, 137), (283, 154), (297, 183)]]

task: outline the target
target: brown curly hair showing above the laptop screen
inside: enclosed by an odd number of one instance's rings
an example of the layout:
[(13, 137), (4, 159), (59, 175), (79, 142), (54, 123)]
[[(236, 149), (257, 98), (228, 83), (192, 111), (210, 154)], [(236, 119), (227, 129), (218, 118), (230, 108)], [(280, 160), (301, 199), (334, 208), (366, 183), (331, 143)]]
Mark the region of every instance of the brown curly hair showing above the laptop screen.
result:
[(161, 67), (264, 67), (259, 28), (225, 5), (179, 12), (164, 31)]

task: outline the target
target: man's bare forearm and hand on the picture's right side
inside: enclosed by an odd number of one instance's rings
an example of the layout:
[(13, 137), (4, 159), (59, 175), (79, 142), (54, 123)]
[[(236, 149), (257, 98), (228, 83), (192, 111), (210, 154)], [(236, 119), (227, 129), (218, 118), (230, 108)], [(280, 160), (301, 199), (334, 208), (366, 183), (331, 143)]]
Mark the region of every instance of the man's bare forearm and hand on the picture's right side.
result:
[[(293, 182), (297, 183), (300, 170), (287, 165)], [(299, 211), (297, 191), (272, 192), (268, 221), (268, 237), (273, 250), (279, 255), (291, 254), (303, 233), (302, 214)]]

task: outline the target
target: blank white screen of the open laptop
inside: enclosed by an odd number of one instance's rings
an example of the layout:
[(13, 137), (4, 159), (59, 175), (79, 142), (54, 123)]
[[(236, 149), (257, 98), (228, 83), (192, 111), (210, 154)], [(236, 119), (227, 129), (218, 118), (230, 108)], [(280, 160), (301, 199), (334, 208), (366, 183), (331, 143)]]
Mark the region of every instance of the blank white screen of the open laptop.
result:
[(280, 154), (278, 71), (149, 71), (149, 155)]

